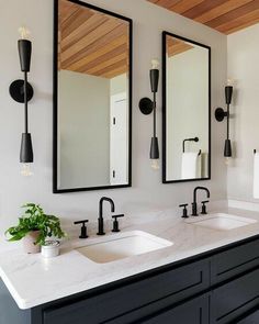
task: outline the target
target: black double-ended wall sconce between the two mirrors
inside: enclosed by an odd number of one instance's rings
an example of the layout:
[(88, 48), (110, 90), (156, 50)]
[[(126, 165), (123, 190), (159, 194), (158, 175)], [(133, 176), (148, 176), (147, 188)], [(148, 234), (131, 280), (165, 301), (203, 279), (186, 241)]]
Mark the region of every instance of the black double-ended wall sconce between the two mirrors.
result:
[(151, 86), (151, 92), (153, 92), (153, 100), (149, 98), (143, 98), (139, 101), (139, 109), (142, 113), (144, 114), (150, 114), (153, 112), (153, 137), (151, 137), (151, 144), (150, 144), (150, 153), (149, 158), (151, 160), (151, 168), (153, 169), (159, 169), (159, 145), (158, 145), (158, 138), (157, 138), (157, 114), (156, 114), (156, 96), (158, 91), (158, 81), (159, 81), (159, 69), (158, 69), (159, 63), (157, 59), (151, 60), (151, 69), (149, 71), (150, 77), (150, 86)]

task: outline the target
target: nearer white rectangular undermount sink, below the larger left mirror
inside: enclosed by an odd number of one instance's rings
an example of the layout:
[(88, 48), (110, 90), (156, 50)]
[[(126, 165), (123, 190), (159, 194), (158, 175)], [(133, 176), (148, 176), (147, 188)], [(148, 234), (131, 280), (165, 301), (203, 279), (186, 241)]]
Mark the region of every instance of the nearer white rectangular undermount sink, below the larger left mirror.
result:
[(77, 248), (94, 262), (105, 264), (171, 246), (173, 243), (143, 231), (125, 232), (100, 238)]

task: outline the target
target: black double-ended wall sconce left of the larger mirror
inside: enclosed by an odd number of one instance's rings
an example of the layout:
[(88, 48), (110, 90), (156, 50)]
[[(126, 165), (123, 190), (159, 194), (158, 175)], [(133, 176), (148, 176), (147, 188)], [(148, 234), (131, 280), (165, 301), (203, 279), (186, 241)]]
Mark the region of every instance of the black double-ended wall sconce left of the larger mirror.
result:
[(18, 41), (18, 51), (20, 57), (21, 71), (24, 72), (24, 80), (15, 80), (11, 83), (9, 92), (13, 100), (24, 103), (24, 133), (22, 133), (20, 163), (23, 164), (22, 175), (31, 176), (30, 164), (33, 163), (32, 136), (29, 133), (27, 122), (27, 102), (33, 98), (33, 88), (27, 82), (27, 72), (30, 72), (32, 43), (26, 40), (29, 31), (25, 27), (19, 29), (21, 40)]

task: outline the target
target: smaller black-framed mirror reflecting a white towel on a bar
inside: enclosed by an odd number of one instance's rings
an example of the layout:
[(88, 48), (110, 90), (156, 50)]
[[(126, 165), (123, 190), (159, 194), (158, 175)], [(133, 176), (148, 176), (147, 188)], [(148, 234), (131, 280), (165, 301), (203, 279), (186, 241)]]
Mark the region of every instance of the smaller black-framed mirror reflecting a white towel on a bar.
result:
[(162, 182), (211, 179), (211, 47), (162, 33)]

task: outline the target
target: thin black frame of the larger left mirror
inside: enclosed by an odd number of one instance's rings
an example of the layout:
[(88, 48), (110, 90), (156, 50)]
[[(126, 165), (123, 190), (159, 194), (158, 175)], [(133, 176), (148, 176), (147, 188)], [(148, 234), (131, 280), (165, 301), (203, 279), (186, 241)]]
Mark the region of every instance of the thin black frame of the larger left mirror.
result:
[(128, 22), (128, 181), (125, 185), (111, 185), (99, 187), (59, 189), (58, 183), (58, 3), (54, 0), (54, 53), (53, 53), (53, 193), (79, 192), (103, 189), (116, 189), (132, 187), (132, 79), (133, 79), (133, 21), (130, 18), (108, 11), (80, 0), (68, 0), (75, 4), (99, 11), (104, 14)]

